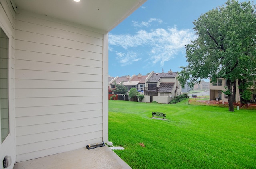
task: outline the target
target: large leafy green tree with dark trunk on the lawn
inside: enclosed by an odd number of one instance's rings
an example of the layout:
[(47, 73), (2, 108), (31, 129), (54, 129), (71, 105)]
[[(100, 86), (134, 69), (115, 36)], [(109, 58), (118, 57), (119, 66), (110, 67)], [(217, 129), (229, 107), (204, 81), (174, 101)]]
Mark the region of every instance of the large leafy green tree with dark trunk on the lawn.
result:
[(225, 4), (193, 22), (198, 37), (185, 46), (188, 66), (181, 67), (178, 79), (182, 86), (187, 82), (192, 87), (209, 77), (212, 82), (226, 78), (224, 93), (229, 111), (234, 111), (231, 83), (236, 79), (246, 83), (255, 73), (256, 14), (250, 1), (228, 0)]

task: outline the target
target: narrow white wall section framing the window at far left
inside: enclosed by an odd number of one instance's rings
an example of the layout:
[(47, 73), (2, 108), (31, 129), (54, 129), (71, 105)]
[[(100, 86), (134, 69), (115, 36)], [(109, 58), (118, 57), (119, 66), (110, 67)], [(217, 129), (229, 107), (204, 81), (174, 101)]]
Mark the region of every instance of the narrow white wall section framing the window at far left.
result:
[[(9, 75), (9, 134), (6, 137), (6, 139), (3, 141), (3, 143), (0, 143), (0, 169), (3, 168), (2, 161), (4, 157), (10, 156), (12, 159), (12, 163), (10, 167), (12, 168), (14, 166), (14, 163), (16, 162), (16, 138), (15, 138), (15, 100), (14, 100), (14, 59), (15, 59), (15, 33), (14, 33), (14, 22), (15, 22), (15, 12), (12, 9), (12, 5), (10, 4), (10, 1), (8, 0), (1, 0), (0, 1), (0, 27), (4, 31), (4, 33), (7, 35), (9, 39), (9, 50), (8, 50), (8, 75)], [(1, 122), (0, 122), (1, 125)], [(0, 131), (1, 132), (1, 131)]]

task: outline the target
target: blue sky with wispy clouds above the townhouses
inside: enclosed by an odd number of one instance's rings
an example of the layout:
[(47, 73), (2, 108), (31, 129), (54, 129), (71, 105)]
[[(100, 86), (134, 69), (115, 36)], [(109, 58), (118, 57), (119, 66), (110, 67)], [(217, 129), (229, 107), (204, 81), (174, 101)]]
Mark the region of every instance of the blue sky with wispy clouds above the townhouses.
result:
[(148, 0), (109, 33), (108, 73), (113, 77), (181, 71), (184, 45), (196, 39), (201, 14), (226, 0)]

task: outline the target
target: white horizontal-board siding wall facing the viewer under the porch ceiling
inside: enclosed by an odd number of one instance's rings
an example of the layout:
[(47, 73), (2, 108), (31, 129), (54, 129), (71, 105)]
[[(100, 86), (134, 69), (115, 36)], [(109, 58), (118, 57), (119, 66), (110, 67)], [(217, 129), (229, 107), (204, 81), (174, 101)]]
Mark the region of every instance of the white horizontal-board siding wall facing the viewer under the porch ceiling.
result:
[(103, 137), (103, 33), (16, 15), (17, 162)]

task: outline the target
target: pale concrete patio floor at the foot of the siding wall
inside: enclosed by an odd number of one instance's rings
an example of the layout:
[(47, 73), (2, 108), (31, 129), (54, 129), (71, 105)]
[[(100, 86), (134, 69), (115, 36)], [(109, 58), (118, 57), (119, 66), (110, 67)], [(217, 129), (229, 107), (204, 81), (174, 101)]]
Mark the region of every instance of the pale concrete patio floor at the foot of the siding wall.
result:
[(106, 145), (90, 150), (84, 147), (22, 161), (16, 163), (14, 169), (131, 169), (131, 167)]

